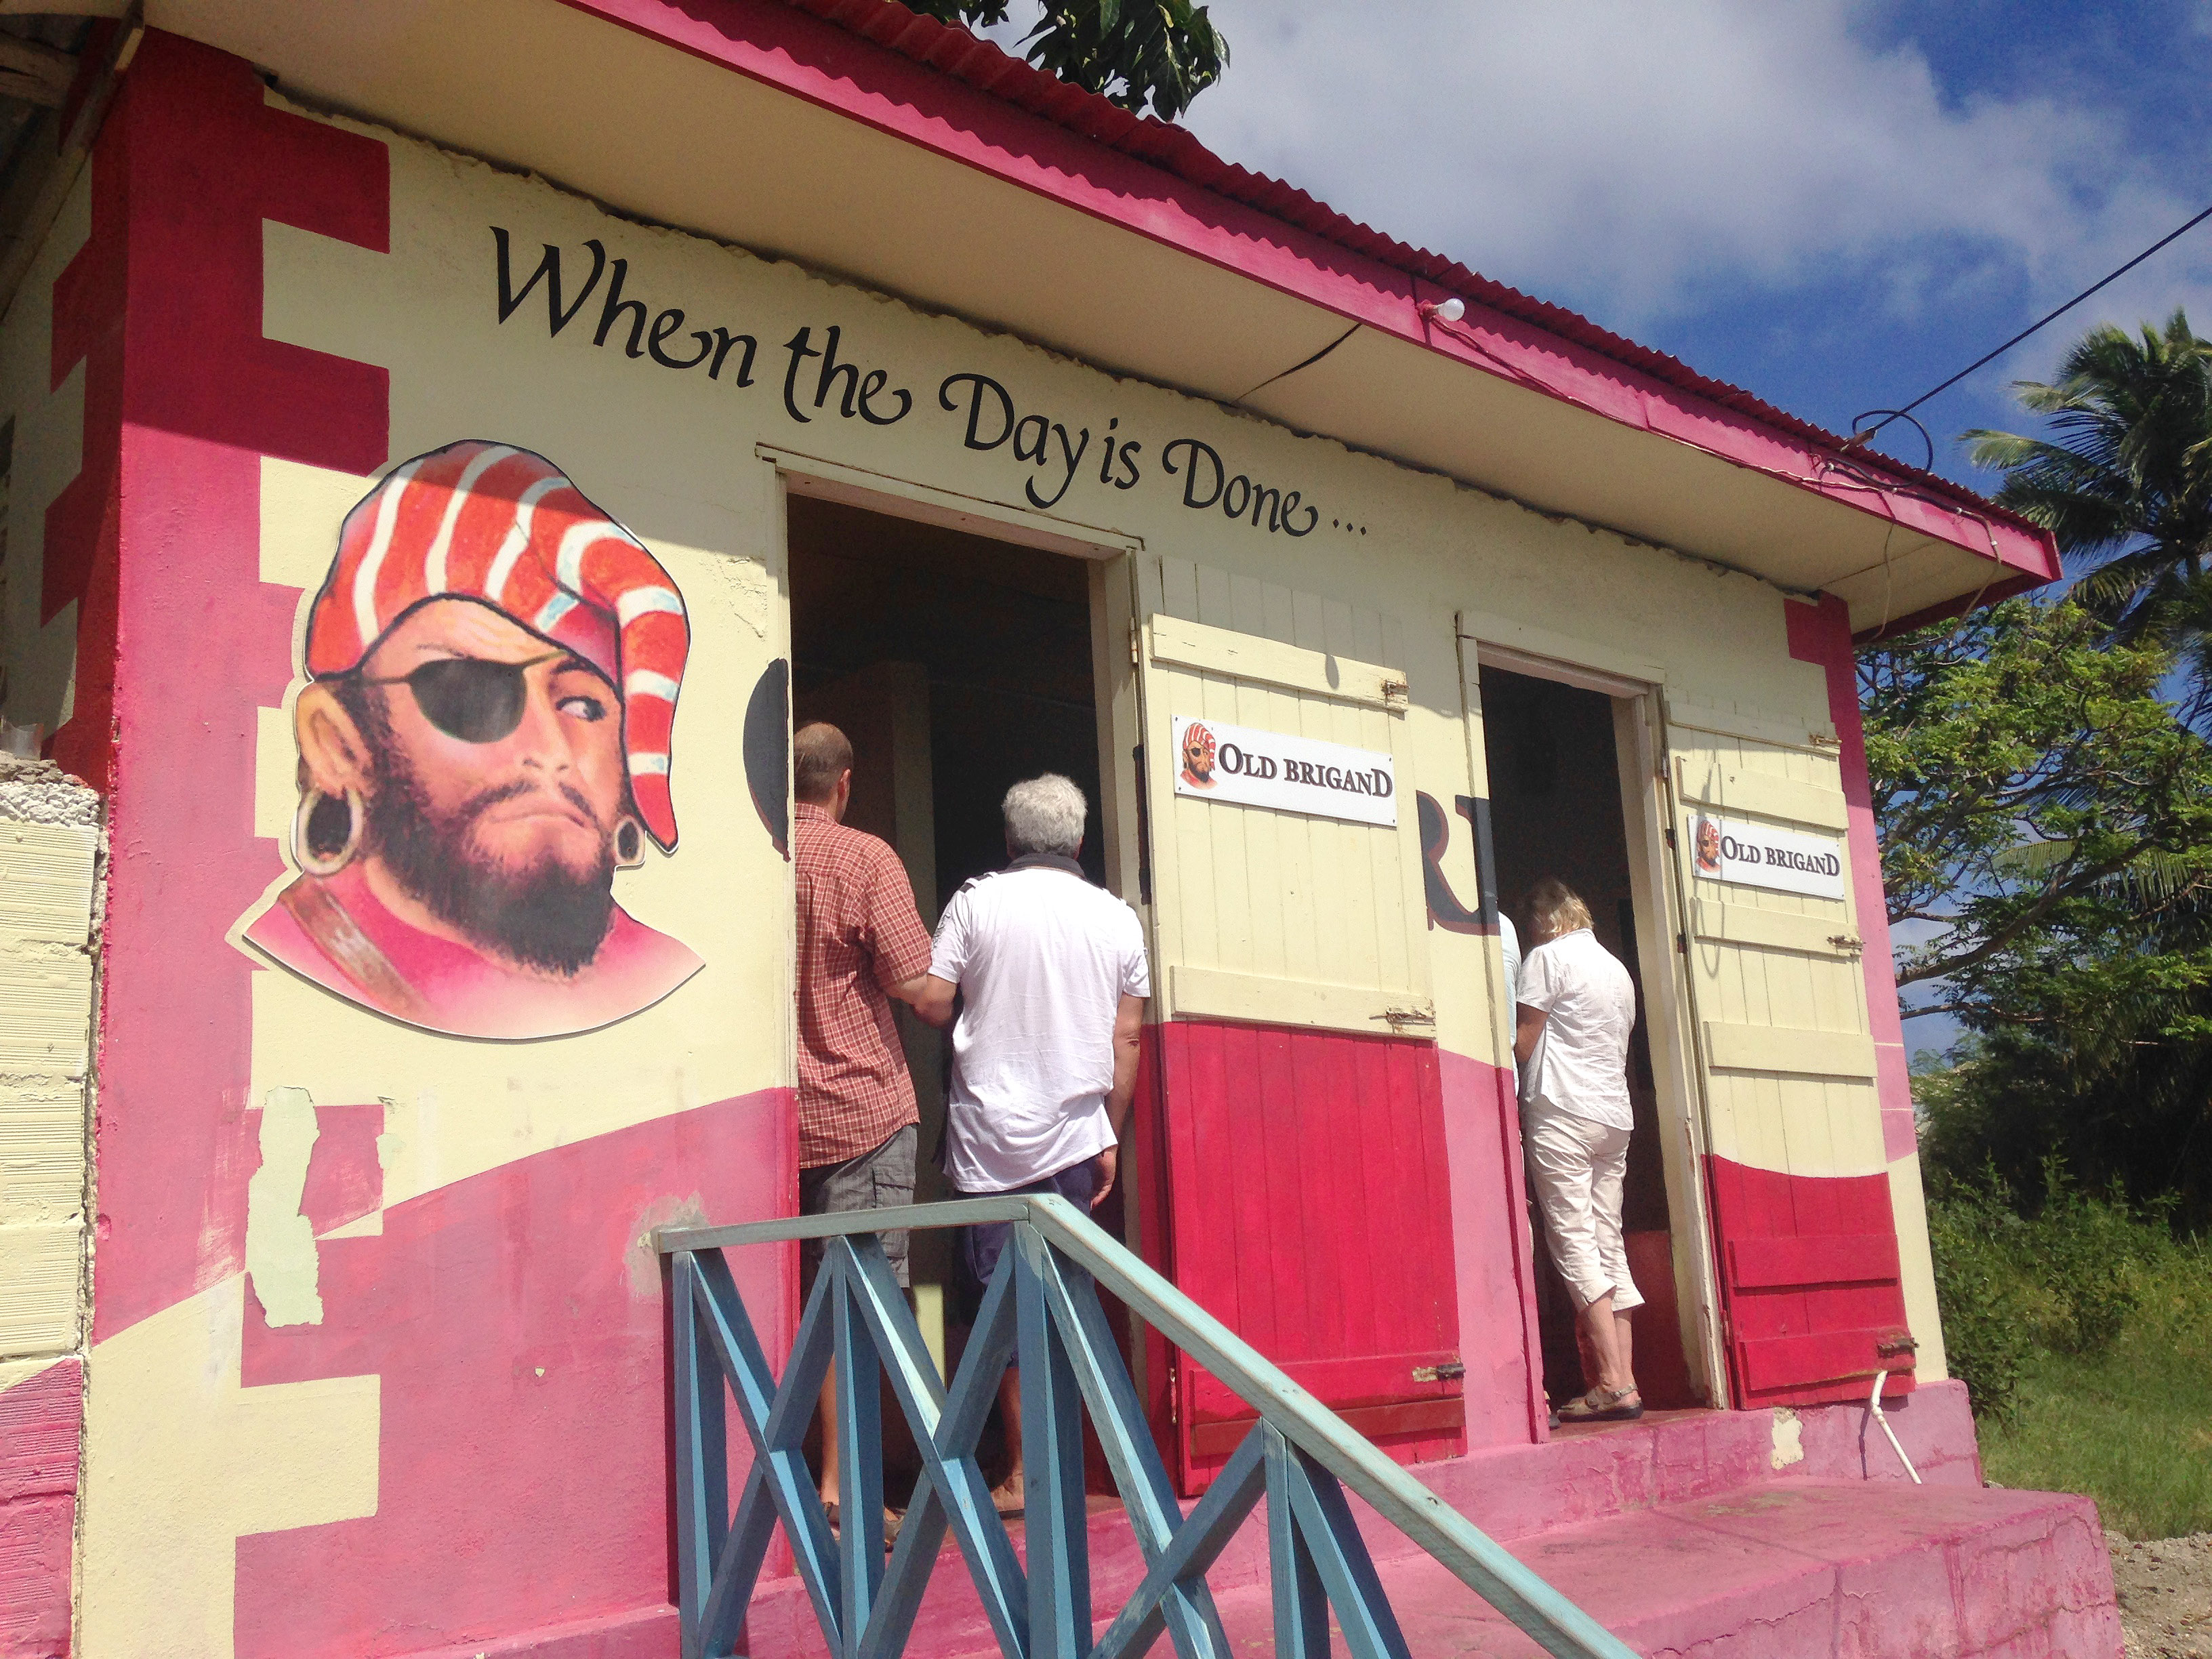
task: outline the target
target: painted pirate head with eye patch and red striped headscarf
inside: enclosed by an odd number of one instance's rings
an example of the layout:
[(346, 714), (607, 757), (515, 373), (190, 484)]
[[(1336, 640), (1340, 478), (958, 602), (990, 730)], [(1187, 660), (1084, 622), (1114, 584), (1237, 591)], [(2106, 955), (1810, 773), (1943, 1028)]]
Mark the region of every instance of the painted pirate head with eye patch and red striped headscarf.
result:
[(699, 971), (615, 872), (677, 845), (690, 648), (668, 571), (553, 462), (394, 467), (307, 615), (299, 878), (246, 929), (336, 995), (465, 1037), (588, 1031)]

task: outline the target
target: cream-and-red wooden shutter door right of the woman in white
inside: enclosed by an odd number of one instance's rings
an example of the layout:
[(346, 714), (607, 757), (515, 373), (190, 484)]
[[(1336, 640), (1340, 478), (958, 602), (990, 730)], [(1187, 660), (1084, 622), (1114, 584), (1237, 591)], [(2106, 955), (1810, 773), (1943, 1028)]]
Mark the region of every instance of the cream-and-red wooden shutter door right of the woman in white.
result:
[[(1670, 701), (1668, 748), (1736, 1402), (1863, 1398), (1878, 1369), (1907, 1389), (1913, 1356), (1834, 745), (1803, 723)], [(1699, 860), (1703, 823), (1778, 832), (1783, 856), (1832, 845), (1840, 896), (1717, 878)]]

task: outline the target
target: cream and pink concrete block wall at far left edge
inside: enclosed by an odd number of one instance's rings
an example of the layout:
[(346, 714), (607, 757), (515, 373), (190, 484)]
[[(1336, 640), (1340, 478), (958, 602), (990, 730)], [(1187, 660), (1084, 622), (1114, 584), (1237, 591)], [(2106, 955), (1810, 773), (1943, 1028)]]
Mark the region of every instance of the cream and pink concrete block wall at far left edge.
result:
[(0, 757), (0, 1655), (69, 1652), (100, 796)]

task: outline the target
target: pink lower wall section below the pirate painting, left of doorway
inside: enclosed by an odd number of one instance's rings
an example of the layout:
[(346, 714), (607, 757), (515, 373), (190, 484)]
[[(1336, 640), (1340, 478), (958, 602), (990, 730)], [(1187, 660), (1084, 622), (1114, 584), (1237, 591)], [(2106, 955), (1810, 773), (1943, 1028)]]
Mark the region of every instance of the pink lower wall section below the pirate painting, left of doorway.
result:
[[(239, 1659), (414, 1655), (672, 1601), (648, 1232), (672, 1192), (781, 1212), (794, 1177), (761, 1148), (790, 1113), (783, 1091), (719, 1102), (394, 1206), (383, 1237), (323, 1243), (321, 1325), (270, 1329), (248, 1298), (246, 1387), (374, 1371), (383, 1444), (376, 1515), (239, 1540)], [(732, 1265), (757, 1314), (783, 1307), (776, 1252)]]

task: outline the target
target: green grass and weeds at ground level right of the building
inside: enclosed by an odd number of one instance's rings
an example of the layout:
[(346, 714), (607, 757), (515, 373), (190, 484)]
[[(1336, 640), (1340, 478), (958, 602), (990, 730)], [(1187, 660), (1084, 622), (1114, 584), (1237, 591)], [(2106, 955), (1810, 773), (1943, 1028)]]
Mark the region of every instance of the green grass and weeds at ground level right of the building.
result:
[(2088, 1493), (2128, 1537), (2212, 1531), (2212, 1248), (2112, 1199), (1991, 1197), (1931, 1214), (1989, 1478)]

